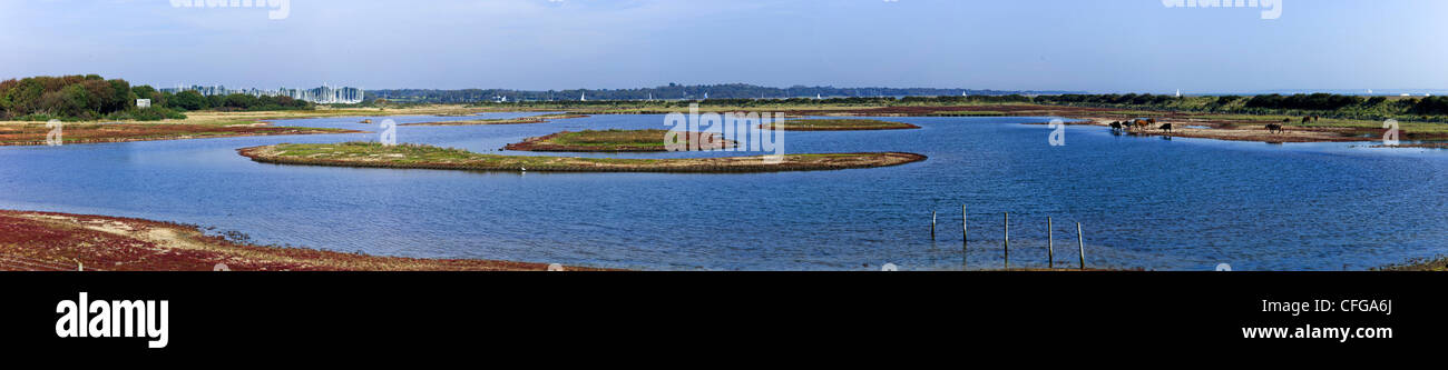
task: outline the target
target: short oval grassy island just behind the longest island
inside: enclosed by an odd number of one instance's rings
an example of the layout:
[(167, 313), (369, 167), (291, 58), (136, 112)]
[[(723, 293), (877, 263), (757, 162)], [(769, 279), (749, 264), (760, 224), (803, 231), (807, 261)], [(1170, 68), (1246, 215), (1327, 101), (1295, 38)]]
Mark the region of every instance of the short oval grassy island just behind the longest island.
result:
[[(529, 137), (505, 146), (521, 152), (668, 152), (668, 130), (584, 130), (560, 132)], [(698, 150), (718, 150), (738, 146), (718, 133), (678, 133), (682, 145), (698, 143)]]

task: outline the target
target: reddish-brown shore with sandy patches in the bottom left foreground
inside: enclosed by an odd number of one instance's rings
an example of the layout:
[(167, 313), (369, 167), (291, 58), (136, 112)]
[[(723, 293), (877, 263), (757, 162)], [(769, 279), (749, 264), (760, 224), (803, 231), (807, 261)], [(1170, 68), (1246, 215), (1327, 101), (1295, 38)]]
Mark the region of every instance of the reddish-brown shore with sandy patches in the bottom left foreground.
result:
[[(191, 225), (0, 211), (0, 270), (547, 270), (544, 263), (378, 257), (233, 243)], [(565, 270), (592, 270), (563, 267)]]

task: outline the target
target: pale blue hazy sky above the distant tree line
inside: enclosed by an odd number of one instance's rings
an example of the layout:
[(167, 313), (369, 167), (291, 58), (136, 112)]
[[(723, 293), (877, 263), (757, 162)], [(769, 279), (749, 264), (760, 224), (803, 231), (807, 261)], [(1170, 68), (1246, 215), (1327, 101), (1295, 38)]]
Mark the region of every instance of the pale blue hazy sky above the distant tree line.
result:
[(1442, 0), (1280, 0), (1276, 19), (1166, 6), (1173, 0), (271, 0), (288, 4), (279, 19), (268, 7), (174, 1), (0, 0), (0, 78), (371, 90), (1448, 87)]

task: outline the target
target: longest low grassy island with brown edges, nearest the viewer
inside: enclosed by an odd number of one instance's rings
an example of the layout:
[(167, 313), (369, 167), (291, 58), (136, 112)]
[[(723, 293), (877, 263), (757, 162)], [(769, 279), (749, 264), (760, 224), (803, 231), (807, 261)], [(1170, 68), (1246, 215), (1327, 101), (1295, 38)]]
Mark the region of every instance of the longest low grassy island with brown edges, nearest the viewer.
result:
[(275, 165), (502, 172), (736, 173), (882, 168), (925, 160), (922, 155), (895, 152), (676, 159), (502, 156), (426, 145), (384, 146), (375, 142), (255, 146), (237, 149), (237, 153)]

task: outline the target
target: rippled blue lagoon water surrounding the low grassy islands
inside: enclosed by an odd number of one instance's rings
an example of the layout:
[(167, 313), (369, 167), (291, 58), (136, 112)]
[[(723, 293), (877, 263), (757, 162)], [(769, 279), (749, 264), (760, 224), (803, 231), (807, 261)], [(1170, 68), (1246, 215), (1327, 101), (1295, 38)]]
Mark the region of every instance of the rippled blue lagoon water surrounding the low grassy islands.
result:
[[(359, 120), (279, 124), (378, 127)], [(891, 120), (924, 129), (791, 132), (785, 146), (914, 152), (927, 162), (752, 175), (489, 173), (278, 166), (235, 152), (375, 140), (371, 133), (0, 147), (0, 208), (213, 225), (256, 243), (371, 254), (657, 270), (999, 267), (1006, 211), (1012, 266), (1045, 266), (1045, 217), (1056, 220), (1058, 263), (1074, 264), (1074, 223), (1083, 223), (1087, 263), (1102, 267), (1338, 270), (1448, 253), (1448, 152), (1164, 140), (1085, 126), (1050, 146), (1048, 127), (1019, 124), (1038, 117)], [(663, 117), (404, 126), (398, 139), (487, 152), (581, 129), (663, 129)], [(940, 212), (934, 243), (931, 211)]]

